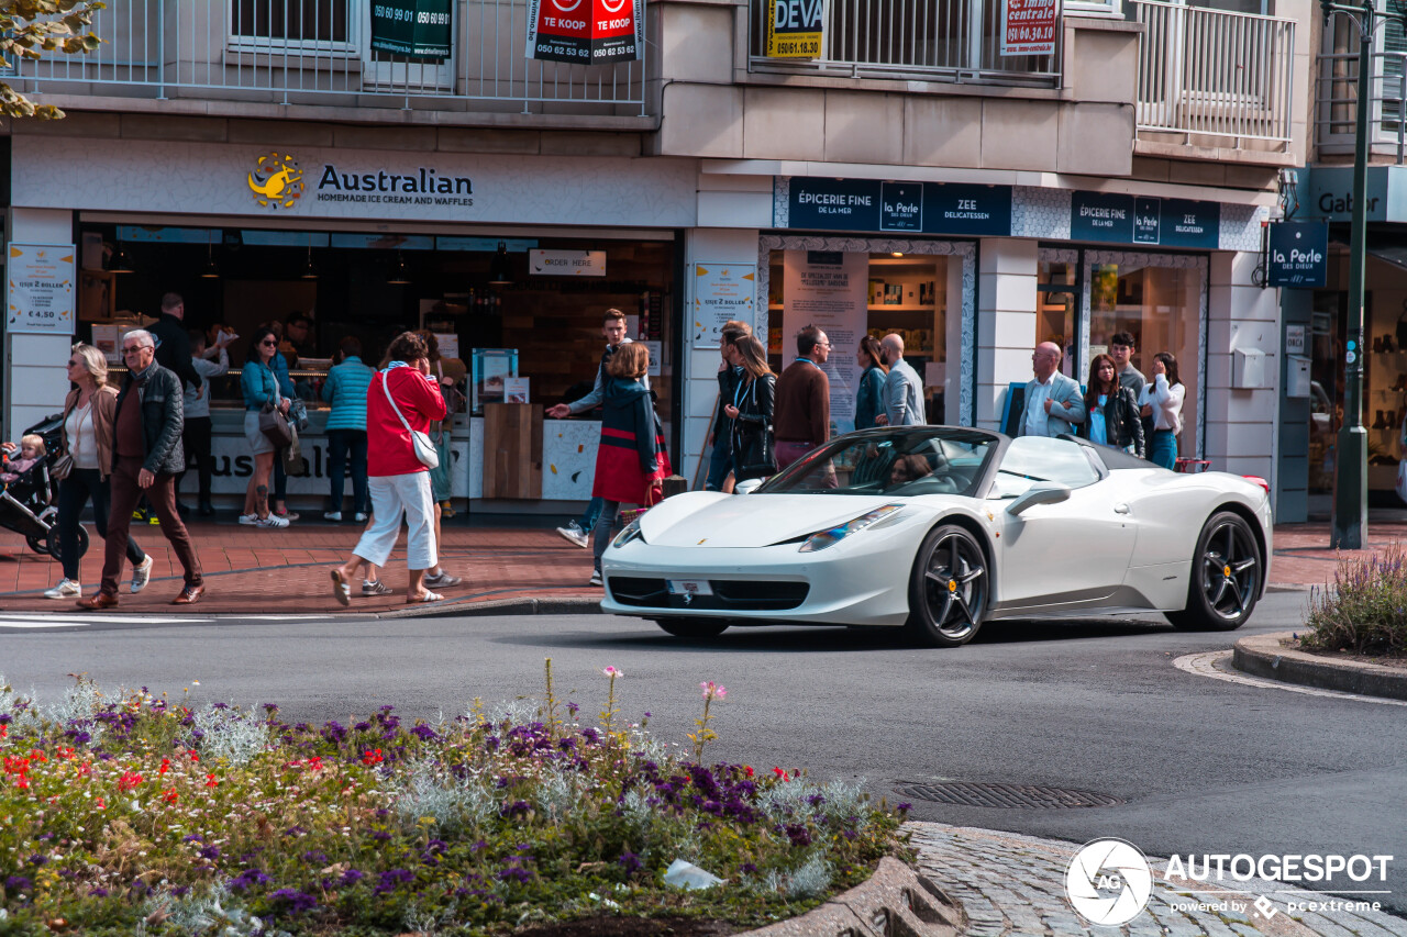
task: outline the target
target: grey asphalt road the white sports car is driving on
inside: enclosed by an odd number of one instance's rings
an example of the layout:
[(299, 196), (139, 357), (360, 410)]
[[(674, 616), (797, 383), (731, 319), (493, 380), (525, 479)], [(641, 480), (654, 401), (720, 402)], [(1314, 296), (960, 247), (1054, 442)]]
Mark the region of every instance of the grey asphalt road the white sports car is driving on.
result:
[[(1272, 594), (1235, 636), (1301, 620), (1301, 594)], [(582, 716), (605, 703), (687, 746), (698, 684), (727, 687), (716, 760), (819, 778), (868, 779), (924, 820), (1072, 841), (1119, 836), (1151, 855), (1387, 854), (1384, 907), (1407, 913), (1407, 708), (1263, 689), (1188, 674), (1172, 661), (1227, 649), (1152, 619), (999, 622), (957, 650), (913, 650), (874, 632), (733, 629), (712, 643), (606, 616), (356, 622), (221, 622), (7, 632), (0, 674), (42, 698), (66, 674), (106, 688), (277, 702), (287, 720), (346, 719), (393, 703), (453, 716), (540, 694)], [(194, 685), (193, 681), (198, 681)], [(1085, 809), (948, 806), (895, 796), (903, 782), (957, 779), (1076, 788), (1123, 803)]]

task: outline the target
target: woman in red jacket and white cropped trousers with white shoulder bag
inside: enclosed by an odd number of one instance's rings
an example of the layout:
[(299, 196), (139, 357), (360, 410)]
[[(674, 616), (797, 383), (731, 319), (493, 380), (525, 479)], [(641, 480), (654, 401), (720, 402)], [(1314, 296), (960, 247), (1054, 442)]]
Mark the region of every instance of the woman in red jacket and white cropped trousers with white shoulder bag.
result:
[(405, 518), (407, 602), (445, 598), (425, 588), (425, 570), (438, 566), (435, 501), (429, 470), (415, 456), (411, 431), (428, 432), (432, 419), (445, 419), (445, 398), (429, 377), (425, 339), (402, 332), (391, 342), (390, 359), (366, 391), (366, 471), (374, 523), (357, 540), (352, 559), (332, 570), (332, 595), (346, 605), (349, 582), (363, 563), (386, 566)]

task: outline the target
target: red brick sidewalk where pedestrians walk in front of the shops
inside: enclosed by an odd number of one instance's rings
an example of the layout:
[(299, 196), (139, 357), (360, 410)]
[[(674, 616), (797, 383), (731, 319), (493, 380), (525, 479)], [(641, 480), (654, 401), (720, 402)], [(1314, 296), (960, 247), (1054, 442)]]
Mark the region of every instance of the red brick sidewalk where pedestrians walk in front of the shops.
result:
[[(356, 546), (360, 526), (297, 521), (287, 530), (260, 530), (229, 521), (190, 523), (208, 580), (198, 611), (228, 615), (277, 613), (386, 613), (405, 609), (405, 550), (391, 554), (386, 582), (394, 595), (363, 599), (353, 589), (352, 608), (332, 599), (328, 567), (340, 563)], [(91, 533), (91, 526), (89, 526)], [(180, 592), (180, 564), (159, 528), (135, 526), (134, 535), (156, 561), (152, 582), (141, 595), (120, 594), (121, 612), (169, 612), (167, 602)], [(445, 525), (442, 561), (464, 584), (443, 592), (447, 602), (490, 604), (504, 599), (573, 599), (590, 608), (601, 589), (587, 585), (591, 552), (563, 540), (552, 528), (481, 528), (459, 519)], [(1407, 522), (1375, 522), (1368, 529), (1369, 556), (1393, 540), (1407, 540)], [(1271, 585), (1306, 589), (1332, 580), (1338, 554), (1328, 549), (1327, 523), (1296, 523), (1275, 529)], [(1345, 554), (1352, 556), (1352, 553)], [(94, 537), (82, 563), (86, 592), (97, 588), (103, 544)], [(0, 530), (0, 608), (8, 612), (69, 611), (72, 602), (44, 598), (44, 589), (62, 577), (59, 564), (32, 553), (24, 537)], [(435, 606), (415, 606), (429, 611)], [(197, 611), (197, 609), (191, 609)]]

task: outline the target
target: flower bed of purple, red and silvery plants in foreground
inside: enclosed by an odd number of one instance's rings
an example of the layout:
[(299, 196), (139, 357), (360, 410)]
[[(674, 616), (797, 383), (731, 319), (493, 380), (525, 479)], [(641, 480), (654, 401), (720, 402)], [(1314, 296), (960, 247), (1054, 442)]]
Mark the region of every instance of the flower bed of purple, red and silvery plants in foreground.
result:
[[(440, 725), (0, 688), (0, 933), (439, 934), (599, 914), (791, 917), (864, 881), (900, 815), (858, 785), (706, 764), (552, 692)], [(3, 684), (0, 678), (0, 684)], [(900, 805), (903, 806), (903, 805)], [(675, 860), (702, 888), (678, 886)]]

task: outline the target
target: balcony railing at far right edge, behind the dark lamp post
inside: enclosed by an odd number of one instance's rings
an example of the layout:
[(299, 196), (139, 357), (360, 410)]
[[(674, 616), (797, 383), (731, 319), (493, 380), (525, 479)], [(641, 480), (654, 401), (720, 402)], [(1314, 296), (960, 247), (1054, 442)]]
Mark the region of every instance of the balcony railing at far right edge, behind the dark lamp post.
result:
[[(1368, 79), (1368, 142), (1375, 155), (1407, 162), (1407, 52), (1377, 52)], [(1318, 56), (1314, 75), (1314, 146), (1318, 155), (1352, 153), (1358, 120), (1358, 53)]]

